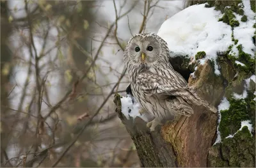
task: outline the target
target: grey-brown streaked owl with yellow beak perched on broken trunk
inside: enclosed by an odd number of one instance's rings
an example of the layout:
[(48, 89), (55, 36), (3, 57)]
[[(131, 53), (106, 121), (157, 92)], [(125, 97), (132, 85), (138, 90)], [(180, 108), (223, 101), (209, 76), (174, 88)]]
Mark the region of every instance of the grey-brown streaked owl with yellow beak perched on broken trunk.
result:
[(215, 107), (209, 107), (208, 102), (189, 88), (182, 75), (173, 70), (169, 57), (167, 43), (154, 33), (134, 35), (124, 50), (132, 95), (143, 110), (154, 116), (147, 123), (150, 131), (181, 115), (191, 116), (192, 105), (204, 105), (216, 112)]

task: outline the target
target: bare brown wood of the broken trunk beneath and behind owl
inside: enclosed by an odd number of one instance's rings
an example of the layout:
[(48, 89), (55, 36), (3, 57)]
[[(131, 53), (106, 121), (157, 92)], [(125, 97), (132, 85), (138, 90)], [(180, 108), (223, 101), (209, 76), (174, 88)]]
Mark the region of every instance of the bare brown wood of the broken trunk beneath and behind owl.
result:
[[(210, 61), (198, 67), (196, 80), (189, 81), (202, 98), (214, 105), (223, 96), (222, 82), (215, 79)], [(207, 73), (205, 73), (207, 72)], [(208, 75), (212, 74), (212, 78)], [(204, 81), (204, 88), (202, 82)], [(211, 89), (211, 92), (202, 89)], [(220, 94), (221, 93), (221, 94)], [(211, 95), (209, 95), (211, 94)], [(127, 120), (121, 112), (120, 96), (115, 95), (116, 112), (132, 137), (143, 167), (206, 167), (207, 154), (216, 134), (217, 114), (205, 107), (193, 107), (191, 117), (182, 116), (176, 123), (161, 126), (161, 130), (151, 132), (146, 123), (136, 118)], [(133, 124), (132, 124), (133, 122)]]

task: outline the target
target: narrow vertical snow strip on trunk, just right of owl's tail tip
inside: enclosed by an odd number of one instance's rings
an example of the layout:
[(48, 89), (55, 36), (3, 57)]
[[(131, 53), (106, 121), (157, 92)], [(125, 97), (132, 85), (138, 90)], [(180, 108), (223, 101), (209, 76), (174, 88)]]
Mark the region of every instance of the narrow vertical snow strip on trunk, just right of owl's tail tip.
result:
[(229, 109), (229, 107), (230, 107), (230, 103), (228, 102), (227, 98), (223, 97), (223, 99), (220, 102), (220, 105), (218, 105), (219, 119), (218, 119), (218, 126), (217, 126), (217, 138), (216, 138), (216, 141), (214, 142), (214, 144), (221, 142), (220, 131), (219, 131), (220, 120), (221, 120), (220, 111), (225, 111), (225, 110)]

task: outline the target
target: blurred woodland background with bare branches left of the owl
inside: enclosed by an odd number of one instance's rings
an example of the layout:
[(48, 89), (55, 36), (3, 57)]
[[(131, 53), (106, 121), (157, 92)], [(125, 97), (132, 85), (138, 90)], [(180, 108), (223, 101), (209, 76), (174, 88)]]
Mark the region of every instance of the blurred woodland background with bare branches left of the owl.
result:
[(184, 1), (1, 1), (1, 167), (140, 167), (113, 96), (132, 35)]

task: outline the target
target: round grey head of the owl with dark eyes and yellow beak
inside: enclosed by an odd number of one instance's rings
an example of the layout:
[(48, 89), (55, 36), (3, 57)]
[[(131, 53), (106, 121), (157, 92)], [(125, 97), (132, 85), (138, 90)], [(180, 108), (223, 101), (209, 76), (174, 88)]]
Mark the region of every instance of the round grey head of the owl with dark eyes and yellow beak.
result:
[(154, 65), (168, 52), (166, 42), (157, 34), (143, 33), (133, 36), (125, 47), (125, 62), (137, 65)]

